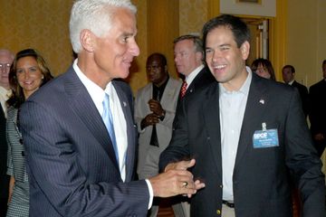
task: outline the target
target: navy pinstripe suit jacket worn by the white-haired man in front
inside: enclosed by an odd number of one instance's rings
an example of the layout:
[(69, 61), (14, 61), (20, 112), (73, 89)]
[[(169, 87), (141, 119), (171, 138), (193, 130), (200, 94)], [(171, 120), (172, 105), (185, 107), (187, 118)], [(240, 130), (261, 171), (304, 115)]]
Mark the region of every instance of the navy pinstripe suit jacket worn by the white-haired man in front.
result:
[(148, 186), (130, 182), (137, 148), (132, 94), (123, 81), (112, 82), (127, 121), (125, 183), (101, 115), (72, 68), (24, 103), (31, 216), (146, 215)]

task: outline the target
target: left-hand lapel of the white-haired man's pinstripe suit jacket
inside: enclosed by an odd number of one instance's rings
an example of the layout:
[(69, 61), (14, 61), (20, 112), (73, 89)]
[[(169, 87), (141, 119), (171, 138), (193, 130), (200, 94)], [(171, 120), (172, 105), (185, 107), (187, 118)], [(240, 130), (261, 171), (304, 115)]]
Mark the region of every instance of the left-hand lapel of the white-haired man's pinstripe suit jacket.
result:
[[(71, 99), (73, 111), (82, 119), (82, 122), (88, 127), (91, 134), (98, 140), (104, 151), (110, 156), (117, 170), (120, 171), (108, 131), (90, 94), (72, 68), (67, 73), (69, 73), (69, 75), (67, 75), (67, 80), (65, 80), (64, 88), (68, 97)], [(110, 146), (108, 146), (108, 144), (110, 144)]]

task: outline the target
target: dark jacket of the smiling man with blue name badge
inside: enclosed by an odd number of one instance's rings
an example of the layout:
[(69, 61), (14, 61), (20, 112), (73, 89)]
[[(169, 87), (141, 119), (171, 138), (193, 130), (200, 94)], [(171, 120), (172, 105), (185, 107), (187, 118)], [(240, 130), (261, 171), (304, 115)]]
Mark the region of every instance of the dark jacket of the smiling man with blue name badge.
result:
[[(302, 193), (303, 216), (325, 216), (325, 184), (298, 91), (253, 73), (233, 171), (235, 215), (292, 216), (292, 180)], [(220, 216), (222, 156), (218, 83), (183, 100), (160, 169), (196, 158), (195, 179), (206, 184), (191, 201), (191, 216)], [(255, 130), (276, 128), (279, 146), (254, 148)]]

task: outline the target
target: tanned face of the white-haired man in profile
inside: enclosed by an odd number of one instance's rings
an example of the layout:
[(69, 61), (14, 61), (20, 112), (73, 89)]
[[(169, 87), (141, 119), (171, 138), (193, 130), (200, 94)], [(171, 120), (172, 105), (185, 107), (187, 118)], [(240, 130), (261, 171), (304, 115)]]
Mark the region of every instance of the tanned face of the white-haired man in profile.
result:
[(139, 46), (135, 41), (137, 33), (136, 17), (128, 9), (116, 9), (112, 17), (112, 27), (104, 36), (93, 36), (91, 52), (94, 67), (102, 79), (125, 79), (135, 56), (139, 55)]

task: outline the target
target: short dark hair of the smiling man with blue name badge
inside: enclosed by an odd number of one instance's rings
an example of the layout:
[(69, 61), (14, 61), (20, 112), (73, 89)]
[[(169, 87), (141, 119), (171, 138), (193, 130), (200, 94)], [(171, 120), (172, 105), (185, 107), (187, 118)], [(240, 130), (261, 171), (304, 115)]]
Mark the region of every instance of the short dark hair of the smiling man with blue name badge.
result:
[(229, 14), (216, 16), (209, 20), (203, 27), (204, 49), (206, 48), (206, 37), (209, 32), (219, 26), (225, 26), (230, 29), (235, 37), (235, 42), (238, 48), (244, 42), (250, 42), (250, 30), (248, 26), (239, 17)]

